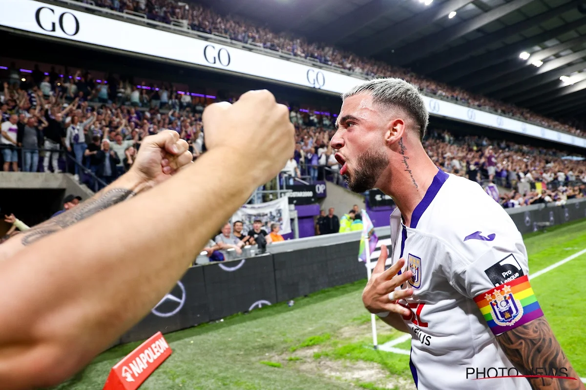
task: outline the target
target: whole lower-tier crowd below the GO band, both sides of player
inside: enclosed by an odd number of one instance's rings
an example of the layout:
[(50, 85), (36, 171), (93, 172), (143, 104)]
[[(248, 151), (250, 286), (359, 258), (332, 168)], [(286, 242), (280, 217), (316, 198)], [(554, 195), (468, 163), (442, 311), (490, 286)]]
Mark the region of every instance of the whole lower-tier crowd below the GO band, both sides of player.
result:
[[(11, 69), (16, 65), (12, 64)], [(94, 80), (89, 72), (60, 75), (52, 69), (45, 73), (36, 66), (25, 81), (11, 84), (10, 70), (8, 75), (0, 91), (4, 171), (18, 171), (20, 161), (23, 171), (35, 172), (40, 167), (45, 172), (67, 170), (77, 180), (100, 188), (127, 171), (141, 140), (161, 129), (180, 133), (188, 141), (194, 159), (205, 151), (201, 119), (207, 99), (203, 95), (176, 91), (173, 85), (134, 85), (114, 77), (108, 77), (108, 83)], [(343, 185), (338, 161), (329, 145), (335, 133), (335, 115), (292, 104), (289, 117), (297, 130), (297, 146), (284, 168), (281, 184), (293, 184), (297, 177)], [(514, 189), (519, 183), (532, 187), (543, 183), (540, 191), (555, 191), (526, 195), (520, 205), (586, 195), (582, 184), (586, 182), (584, 161), (563, 158), (566, 155), (562, 151), (478, 136), (456, 138), (434, 129), (428, 135), (424, 146), (444, 171)], [(41, 164), (39, 149), (44, 149)], [(69, 158), (62, 158), (63, 153)], [(84, 167), (100, 181), (84, 174)], [(267, 190), (276, 188), (277, 178), (264, 186)], [(516, 196), (503, 194), (500, 201), (507, 206), (519, 201)], [(537, 196), (541, 200), (533, 199)], [(270, 195), (264, 195), (265, 201), (270, 199)]]

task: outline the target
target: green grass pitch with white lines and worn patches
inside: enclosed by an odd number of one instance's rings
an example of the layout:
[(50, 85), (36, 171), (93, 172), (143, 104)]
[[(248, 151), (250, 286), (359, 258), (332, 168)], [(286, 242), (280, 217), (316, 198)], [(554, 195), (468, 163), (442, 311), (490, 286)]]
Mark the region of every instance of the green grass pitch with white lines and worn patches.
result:
[[(524, 236), (530, 273), (586, 248), (586, 220)], [(541, 275), (532, 287), (578, 374), (586, 377), (583, 325), (586, 254)], [(370, 316), (360, 294), (365, 281), (235, 315), (166, 335), (171, 357), (141, 390), (414, 389), (407, 355), (369, 348)], [(378, 320), (379, 343), (401, 333)], [(409, 349), (410, 341), (397, 348)], [(139, 343), (98, 356), (54, 389), (101, 389), (110, 368)]]

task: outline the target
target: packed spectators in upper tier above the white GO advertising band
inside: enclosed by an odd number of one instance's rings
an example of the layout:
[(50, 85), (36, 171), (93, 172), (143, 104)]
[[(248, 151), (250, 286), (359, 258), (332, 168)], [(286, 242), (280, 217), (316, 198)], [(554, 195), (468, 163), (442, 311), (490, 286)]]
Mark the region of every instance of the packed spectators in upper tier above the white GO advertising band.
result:
[(282, 51), (292, 56), (314, 58), (322, 64), (333, 65), (347, 71), (359, 73), (366, 77), (400, 77), (430, 95), (454, 99), (468, 105), (485, 108), (510, 116), (522, 118), (540, 126), (584, 135), (582, 130), (573, 125), (575, 122), (560, 123), (546, 118), (529, 109), (519, 108), (485, 96), (471, 94), (462, 88), (451, 87), (441, 82), (421, 77), (412, 71), (395, 67), (372, 58), (362, 58), (356, 54), (336, 49), (325, 43), (311, 43), (306, 39), (288, 33), (276, 33), (267, 27), (257, 25), (251, 20), (236, 15), (220, 15), (197, 4), (185, 4), (175, 0), (78, 0), (95, 4), (114, 11), (125, 10), (144, 13), (147, 18), (162, 23), (171, 23), (173, 19), (184, 20), (192, 30), (205, 33), (218, 33), (243, 43), (261, 44), (265, 49)]

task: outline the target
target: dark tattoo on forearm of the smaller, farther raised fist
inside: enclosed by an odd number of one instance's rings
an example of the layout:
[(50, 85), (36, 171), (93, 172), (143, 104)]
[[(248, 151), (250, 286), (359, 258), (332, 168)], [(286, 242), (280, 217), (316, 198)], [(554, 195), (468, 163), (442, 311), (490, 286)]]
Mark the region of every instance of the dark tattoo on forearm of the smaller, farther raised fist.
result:
[(24, 246), (32, 244), (45, 236), (49, 236), (49, 234), (59, 232), (59, 230), (65, 229), (74, 223), (80, 222), (80, 220), (86, 219), (116, 203), (125, 201), (134, 195), (134, 191), (123, 188), (114, 188), (103, 193), (98, 192), (94, 198), (88, 199), (79, 206), (67, 210), (28, 230), (26, 234), (23, 234), (22, 244)]

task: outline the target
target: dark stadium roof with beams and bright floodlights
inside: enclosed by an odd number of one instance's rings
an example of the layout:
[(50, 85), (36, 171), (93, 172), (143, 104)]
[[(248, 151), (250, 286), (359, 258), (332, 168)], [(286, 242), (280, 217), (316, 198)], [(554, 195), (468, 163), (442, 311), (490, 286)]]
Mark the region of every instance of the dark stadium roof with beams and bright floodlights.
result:
[(203, 0), (536, 112), (586, 116), (586, 0), (429, 1)]

